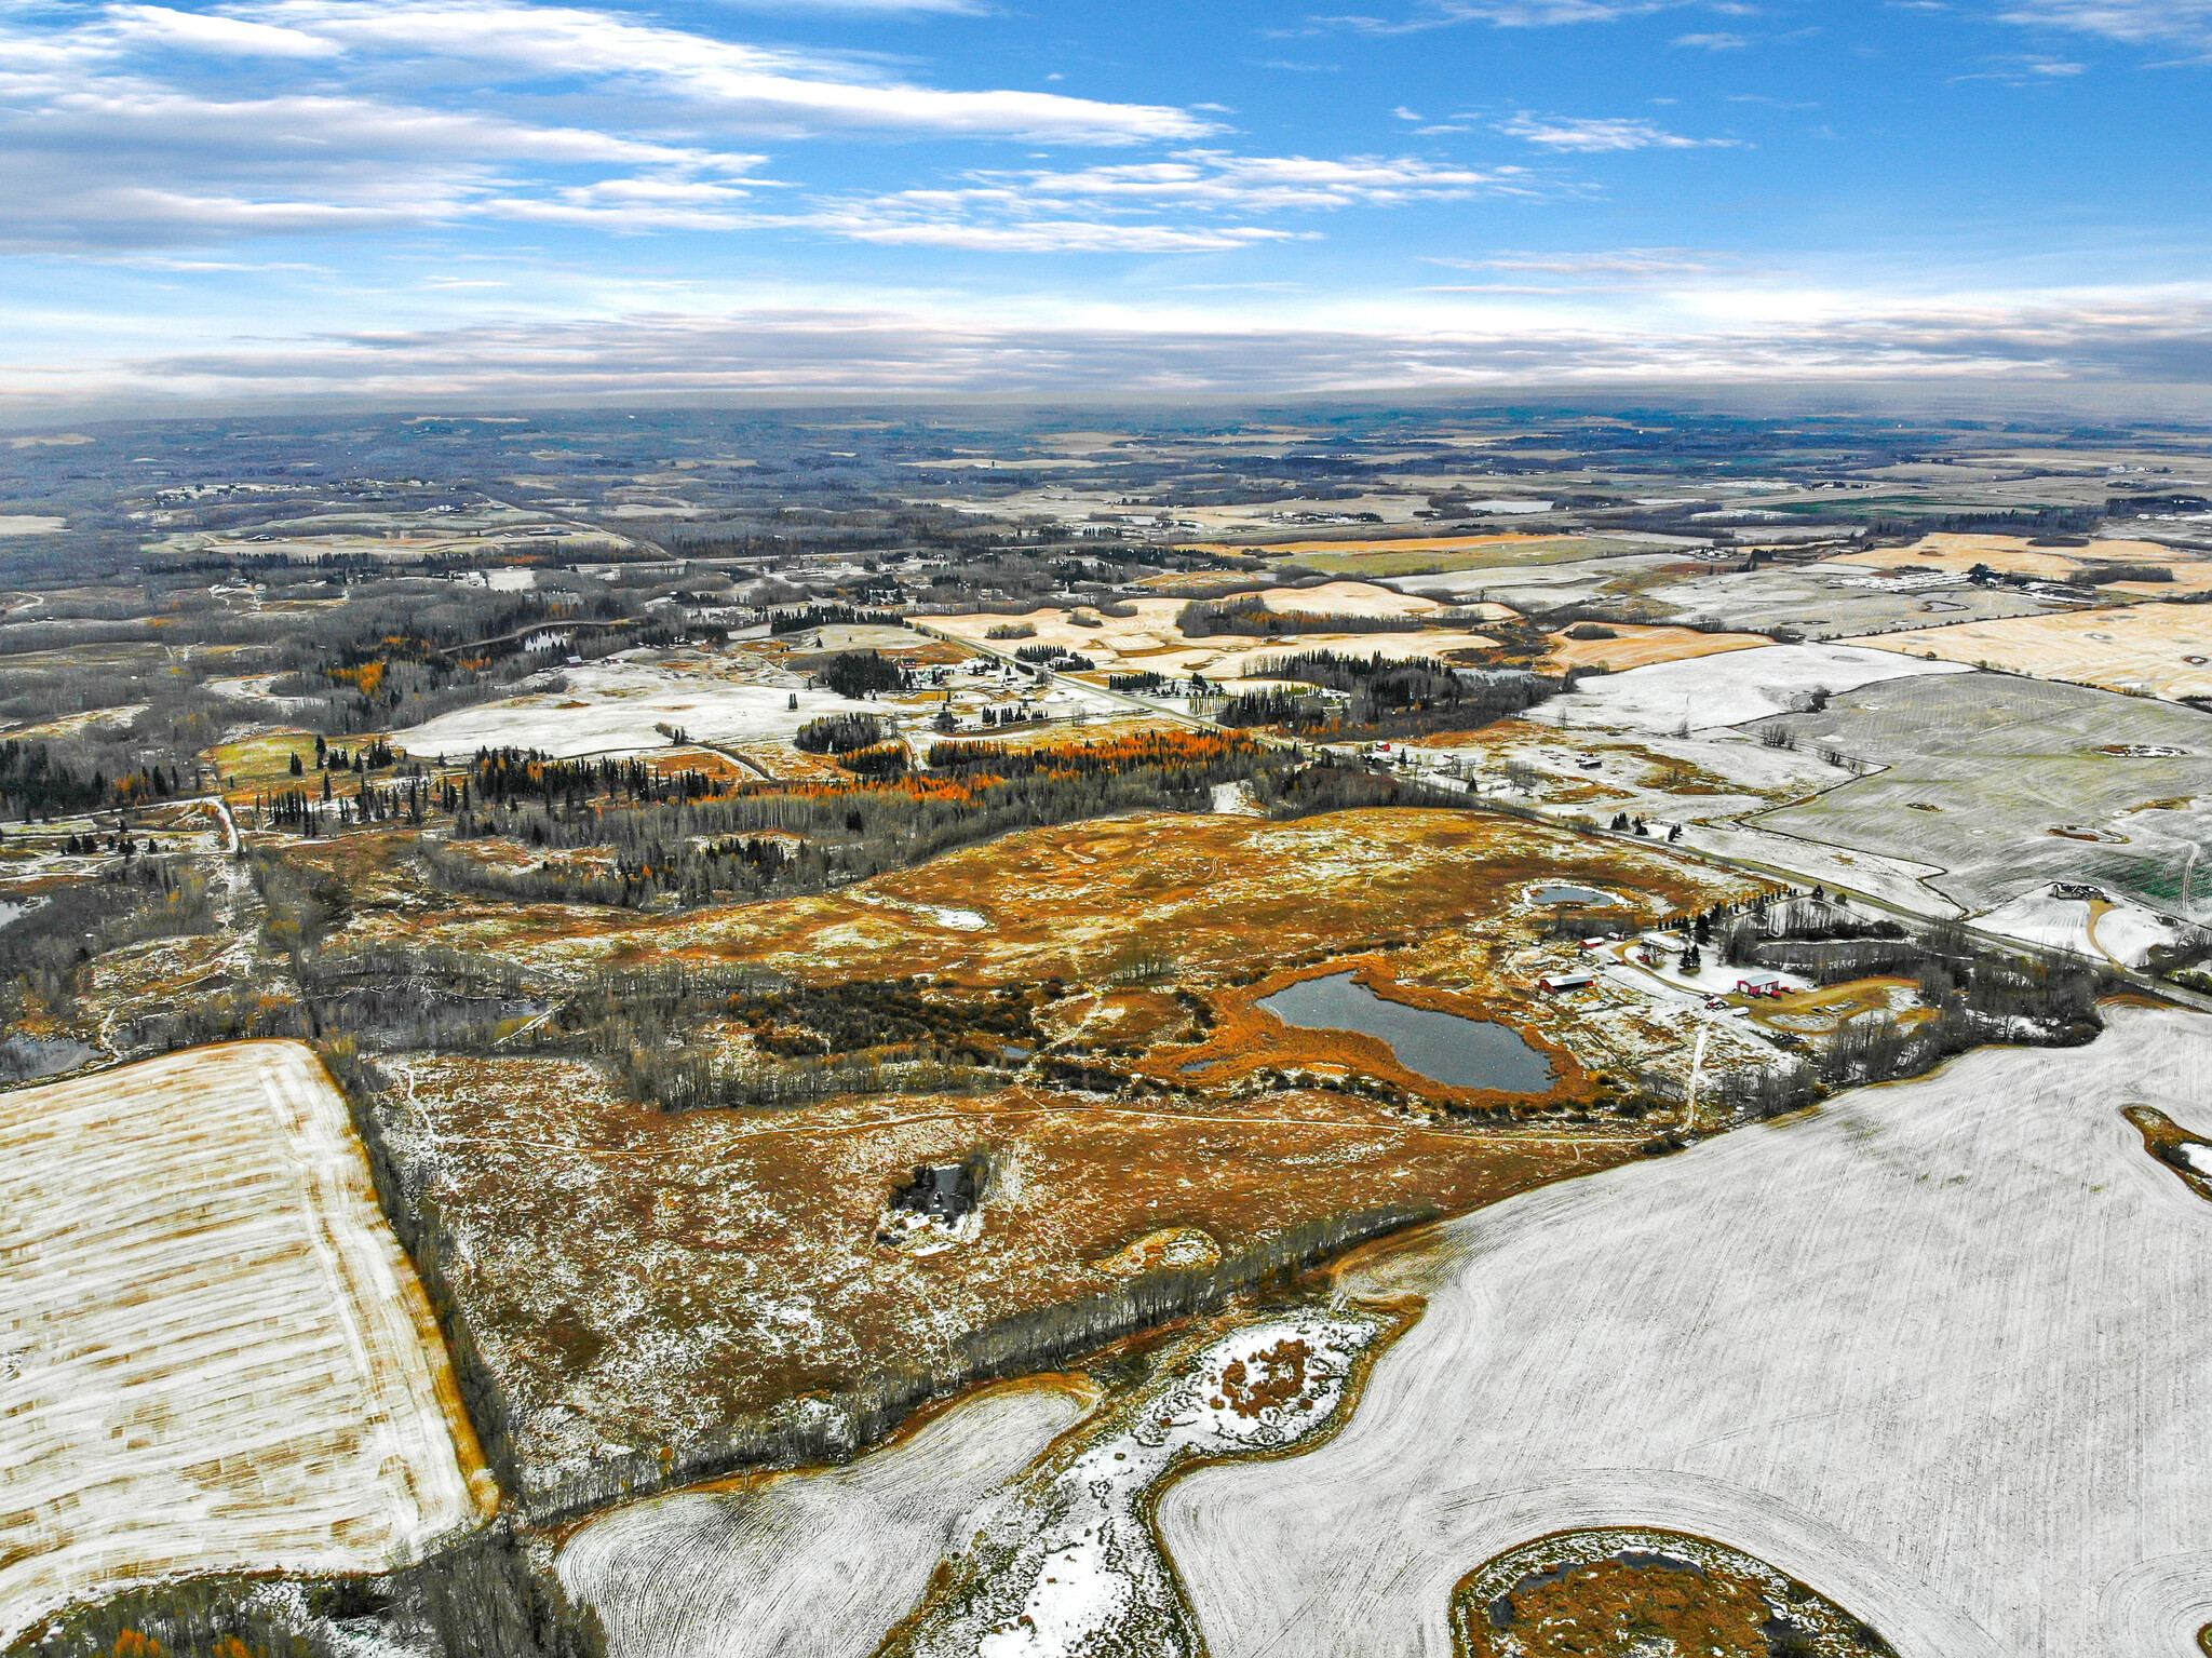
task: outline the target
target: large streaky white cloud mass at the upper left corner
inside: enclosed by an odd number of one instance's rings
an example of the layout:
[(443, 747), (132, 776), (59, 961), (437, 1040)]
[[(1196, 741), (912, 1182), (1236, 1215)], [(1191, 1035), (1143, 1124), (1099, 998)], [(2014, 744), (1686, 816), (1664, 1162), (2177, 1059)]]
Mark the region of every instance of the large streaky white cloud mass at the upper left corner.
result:
[(759, 130), (1135, 144), (1214, 126), (1152, 104), (938, 91), (566, 4), (20, 7), (0, 13), (0, 252), (469, 217), (732, 230), (759, 221), (741, 199), (768, 186), (732, 137)]

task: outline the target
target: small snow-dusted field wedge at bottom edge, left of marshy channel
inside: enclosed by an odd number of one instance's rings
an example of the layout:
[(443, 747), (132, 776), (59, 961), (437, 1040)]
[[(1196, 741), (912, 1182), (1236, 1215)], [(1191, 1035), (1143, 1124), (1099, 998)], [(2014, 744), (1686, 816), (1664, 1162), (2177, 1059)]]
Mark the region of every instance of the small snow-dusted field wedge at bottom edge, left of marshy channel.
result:
[(991, 1388), (849, 1468), (622, 1508), (580, 1530), (555, 1572), (599, 1614), (608, 1658), (867, 1658), (960, 1514), (1088, 1404), (1051, 1379)]

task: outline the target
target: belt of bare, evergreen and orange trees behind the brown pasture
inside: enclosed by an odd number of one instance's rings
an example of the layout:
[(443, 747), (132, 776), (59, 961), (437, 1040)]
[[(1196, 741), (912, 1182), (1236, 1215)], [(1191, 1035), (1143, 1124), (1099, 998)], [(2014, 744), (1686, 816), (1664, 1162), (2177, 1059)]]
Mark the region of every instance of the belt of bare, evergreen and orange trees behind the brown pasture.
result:
[[(1281, 816), (1427, 802), (1416, 785), (1228, 732), (1155, 730), (1037, 747), (936, 743), (925, 772), (754, 783), (712, 798), (648, 796), (639, 805), (582, 805), (557, 789), (502, 796), (482, 783), (513, 778), (518, 765), (531, 763), (480, 756), (478, 787), (453, 820), (453, 838), (422, 844), (440, 882), (529, 902), (712, 904), (865, 880), (1011, 829), (1133, 809), (1210, 811), (1221, 783), (1250, 783)], [(513, 869), (471, 849), (487, 838), (549, 856), (538, 869)]]

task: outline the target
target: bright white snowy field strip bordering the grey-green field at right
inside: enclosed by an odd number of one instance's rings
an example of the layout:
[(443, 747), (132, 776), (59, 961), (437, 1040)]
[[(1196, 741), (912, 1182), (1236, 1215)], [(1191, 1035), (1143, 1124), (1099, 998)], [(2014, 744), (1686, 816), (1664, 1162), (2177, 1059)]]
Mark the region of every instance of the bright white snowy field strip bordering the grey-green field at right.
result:
[(1544, 716), (1564, 710), (1575, 725), (1674, 732), (1688, 723), (1697, 732), (1787, 714), (1794, 699), (1816, 690), (1847, 692), (1878, 679), (1971, 672), (1966, 663), (1918, 661), (1860, 646), (1763, 646), (1588, 679), (1573, 696), (1546, 703)]

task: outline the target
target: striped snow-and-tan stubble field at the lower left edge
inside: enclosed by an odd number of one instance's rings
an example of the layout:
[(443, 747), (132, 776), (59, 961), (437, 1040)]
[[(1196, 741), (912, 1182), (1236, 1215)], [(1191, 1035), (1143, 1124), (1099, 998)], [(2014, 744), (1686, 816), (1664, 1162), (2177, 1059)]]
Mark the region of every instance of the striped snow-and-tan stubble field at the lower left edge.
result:
[(192, 1572), (385, 1572), (489, 1517), (438, 1326), (314, 1054), (0, 1094), (0, 1640)]

